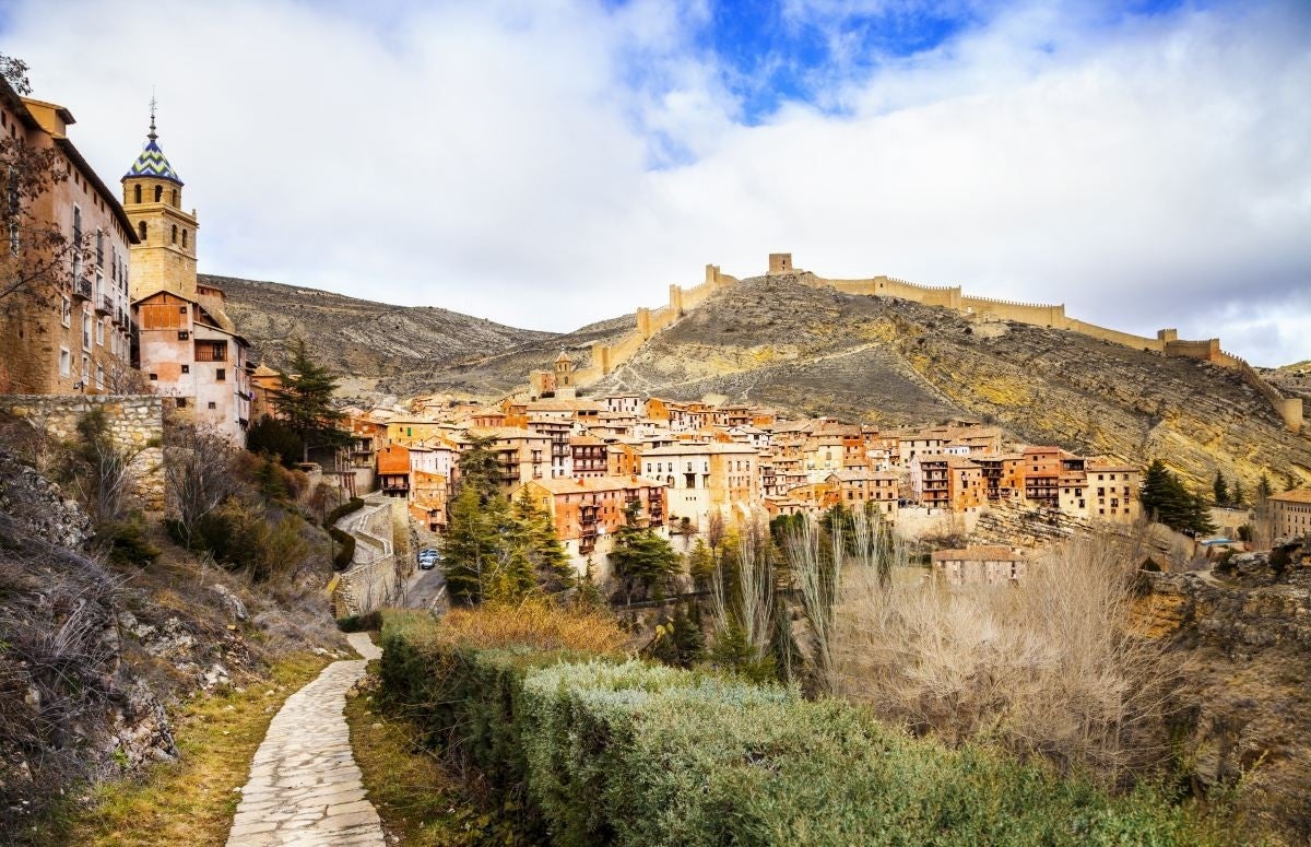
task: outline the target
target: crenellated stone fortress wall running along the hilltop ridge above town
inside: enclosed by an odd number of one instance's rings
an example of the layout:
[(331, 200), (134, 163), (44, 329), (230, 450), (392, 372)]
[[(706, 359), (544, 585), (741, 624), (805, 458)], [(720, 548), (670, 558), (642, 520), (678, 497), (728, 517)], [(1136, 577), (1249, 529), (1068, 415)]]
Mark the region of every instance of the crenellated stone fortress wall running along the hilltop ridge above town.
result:
[[(873, 296), (890, 296), (902, 300), (911, 300), (924, 305), (937, 305), (954, 309), (962, 315), (978, 316), (981, 319), (1007, 320), (1033, 326), (1047, 326), (1051, 329), (1065, 329), (1076, 332), (1089, 338), (1108, 341), (1110, 344), (1160, 353), (1168, 357), (1202, 359), (1222, 367), (1239, 371), (1244, 382), (1261, 393), (1283, 420), (1290, 431), (1302, 431), (1303, 409), (1301, 397), (1285, 397), (1274, 385), (1261, 378), (1256, 370), (1240, 357), (1221, 350), (1219, 338), (1203, 341), (1181, 341), (1175, 329), (1162, 329), (1155, 338), (1135, 336), (1133, 333), (1108, 329), (1074, 317), (1065, 312), (1065, 304), (1047, 303), (1015, 303), (1012, 300), (995, 300), (991, 298), (977, 298), (961, 292), (960, 286), (922, 286), (894, 277), (869, 277), (865, 279), (829, 279), (810, 271), (796, 270), (792, 265), (791, 253), (770, 253), (771, 275), (794, 275), (804, 283), (829, 286), (846, 294), (860, 294)], [(676, 285), (669, 287), (669, 303), (656, 309), (637, 309), (637, 328), (617, 342), (594, 344), (591, 350), (591, 364), (577, 372), (577, 383), (585, 385), (610, 374), (625, 361), (628, 361), (641, 345), (670, 326), (678, 319), (696, 308), (717, 288), (738, 282), (735, 277), (720, 273), (717, 265), (705, 266), (705, 281), (695, 287), (683, 288)]]

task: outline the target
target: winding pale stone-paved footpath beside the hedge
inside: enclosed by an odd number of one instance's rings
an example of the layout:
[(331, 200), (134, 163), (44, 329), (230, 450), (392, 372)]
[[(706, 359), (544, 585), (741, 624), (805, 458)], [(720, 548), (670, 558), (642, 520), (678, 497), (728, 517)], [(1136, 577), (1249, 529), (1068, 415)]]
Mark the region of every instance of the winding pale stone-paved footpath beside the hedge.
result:
[(363, 660), (333, 662), (295, 692), (269, 724), (241, 789), (228, 847), (383, 847), (382, 822), (364, 798), (342, 709), (364, 665), (383, 652), (347, 636)]

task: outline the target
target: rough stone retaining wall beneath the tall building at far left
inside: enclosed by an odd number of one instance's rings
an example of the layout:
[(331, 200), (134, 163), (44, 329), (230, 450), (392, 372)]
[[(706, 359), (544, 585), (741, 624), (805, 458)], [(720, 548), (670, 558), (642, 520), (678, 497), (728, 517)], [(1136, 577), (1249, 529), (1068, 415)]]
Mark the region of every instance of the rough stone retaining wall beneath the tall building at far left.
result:
[(113, 442), (136, 452), (138, 502), (164, 510), (164, 400), (155, 395), (0, 395), (0, 412), (30, 421), (60, 441), (77, 438), (77, 422), (104, 409)]

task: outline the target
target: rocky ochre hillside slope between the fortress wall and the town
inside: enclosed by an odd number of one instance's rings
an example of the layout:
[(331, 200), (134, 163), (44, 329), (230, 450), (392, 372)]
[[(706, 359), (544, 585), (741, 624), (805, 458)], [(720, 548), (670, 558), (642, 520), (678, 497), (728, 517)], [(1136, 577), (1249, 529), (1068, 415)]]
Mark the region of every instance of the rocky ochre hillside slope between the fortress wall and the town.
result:
[(1164, 458), (1197, 485), (1311, 481), (1311, 438), (1287, 433), (1234, 371), (789, 277), (718, 291), (593, 391), (720, 395), (882, 425), (995, 422), (1029, 443)]

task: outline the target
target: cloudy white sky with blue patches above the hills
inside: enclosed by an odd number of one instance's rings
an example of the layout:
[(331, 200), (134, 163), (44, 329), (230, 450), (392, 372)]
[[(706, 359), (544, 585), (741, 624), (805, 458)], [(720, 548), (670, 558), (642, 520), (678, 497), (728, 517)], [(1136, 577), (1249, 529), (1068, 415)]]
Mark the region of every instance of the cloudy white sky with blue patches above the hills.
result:
[(1311, 3), (0, 0), (203, 273), (535, 329), (771, 252), (1311, 358)]

